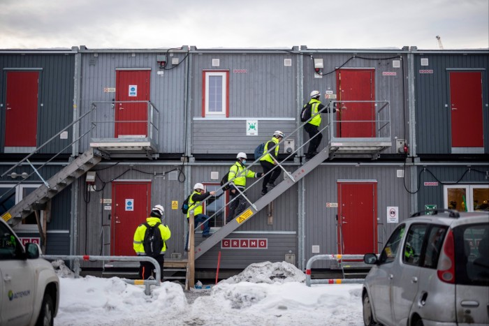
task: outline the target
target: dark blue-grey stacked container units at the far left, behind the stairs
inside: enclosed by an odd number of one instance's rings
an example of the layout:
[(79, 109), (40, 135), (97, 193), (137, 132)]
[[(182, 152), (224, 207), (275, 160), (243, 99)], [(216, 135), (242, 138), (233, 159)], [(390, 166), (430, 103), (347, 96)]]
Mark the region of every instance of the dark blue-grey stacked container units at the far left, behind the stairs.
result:
[[(41, 185), (36, 171), (48, 179), (68, 164), (77, 52), (78, 47), (0, 50), (0, 215)], [(14, 166), (28, 154), (33, 154), (29, 161)], [(33, 212), (16, 226), (17, 234), (42, 244), (48, 253), (69, 254), (71, 186), (37, 208), (41, 232)]]

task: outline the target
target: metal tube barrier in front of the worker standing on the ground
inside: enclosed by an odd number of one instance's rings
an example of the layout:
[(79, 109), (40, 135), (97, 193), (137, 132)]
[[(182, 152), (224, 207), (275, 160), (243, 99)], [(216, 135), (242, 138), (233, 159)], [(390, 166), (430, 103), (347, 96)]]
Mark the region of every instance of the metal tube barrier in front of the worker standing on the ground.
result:
[(161, 269), (156, 259), (148, 257), (146, 255), (41, 255), (41, 258), (46, 260), (74, 260), (75, 265), (73, 271), (75, 272), (75, 279), (80, 277), (80, 260), (118, 260), (125, 262), (152, 262), (154, 269), (156, 270), (156, 279), (147, 280), (130, 280), (122, 279), (122, 281), (133, 284), (135, 286), (145, 286), (145, 295), (151, 295), (150, 286), (161, 285)]

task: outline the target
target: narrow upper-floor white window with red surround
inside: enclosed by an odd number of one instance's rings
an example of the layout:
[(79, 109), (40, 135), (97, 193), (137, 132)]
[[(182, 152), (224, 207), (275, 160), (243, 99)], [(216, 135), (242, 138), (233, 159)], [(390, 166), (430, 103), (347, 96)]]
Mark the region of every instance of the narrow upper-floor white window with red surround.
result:
[(203, 71), (203, 117), (228, 117), (228, 71)]

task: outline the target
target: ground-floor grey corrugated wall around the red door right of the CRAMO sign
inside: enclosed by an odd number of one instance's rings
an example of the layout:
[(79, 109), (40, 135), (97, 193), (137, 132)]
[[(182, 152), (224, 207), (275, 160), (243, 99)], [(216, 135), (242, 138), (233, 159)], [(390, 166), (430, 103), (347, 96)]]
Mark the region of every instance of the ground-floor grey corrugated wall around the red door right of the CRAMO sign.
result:
[[(410, 195), (404, 190), (404, 178), (397, 177), (402, 165), (383, 165), (381, 163), (359, 163), (337, 165), (322, 164), (305, 177), (305, 261), (314, 255), (312, 246), (319, 245), (321, 254), (337, 253), (338, 209), (326, 208), (326, 202), (338, 202), (337, 181), (377, 181), (377, 235), (379, 251), (397, 224), (386, 223), (386, 207), (399, 207), (399, 220), (407, 218)], [(405, 171), (409, 184), (409, 171)], [(317, 262), (314, 267), (329, 266), (328, 262)]]

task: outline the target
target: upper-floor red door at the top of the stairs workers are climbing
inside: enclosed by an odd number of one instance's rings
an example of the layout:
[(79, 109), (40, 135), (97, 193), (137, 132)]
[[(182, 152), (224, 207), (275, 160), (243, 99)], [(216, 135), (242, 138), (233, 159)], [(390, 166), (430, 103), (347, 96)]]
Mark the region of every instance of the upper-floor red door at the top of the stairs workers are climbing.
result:
[[(374, 101), (374, 69), (338, 69), (336, 84), (338, 101)], [(337, 137), (374, 138), (375, 107), (373, 103), (340, 103), (337, 112)], [(365, 122), (363, 122), (365, 121)]]

